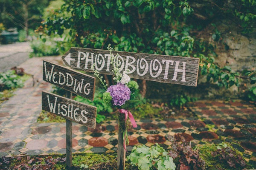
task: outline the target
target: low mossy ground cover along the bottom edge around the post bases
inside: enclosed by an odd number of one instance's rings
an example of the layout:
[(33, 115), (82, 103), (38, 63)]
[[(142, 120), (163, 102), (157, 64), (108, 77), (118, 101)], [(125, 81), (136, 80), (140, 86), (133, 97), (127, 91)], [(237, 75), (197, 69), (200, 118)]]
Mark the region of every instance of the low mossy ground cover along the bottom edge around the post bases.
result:
[[(117, 170), (116, 153), (79, 153), (73, 154), (72, 165), (75, 170)], [(65, 170), (65, 155), (20, 156), (0, 158), (1, 170), (50, 169)], [(138, 170), (126, 162), (126, 169)]]

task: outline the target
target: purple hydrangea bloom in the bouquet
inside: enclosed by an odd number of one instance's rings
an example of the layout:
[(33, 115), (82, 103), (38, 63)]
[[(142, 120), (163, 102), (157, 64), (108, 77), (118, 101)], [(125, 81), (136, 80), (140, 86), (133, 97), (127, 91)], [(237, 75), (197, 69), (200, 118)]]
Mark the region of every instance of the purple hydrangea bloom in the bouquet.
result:
[(131, 91), (122, 83), (111, 85), (107, 92), (110, 92), (110, 95), (112, 96), (113, 105), (122, 106), (125, 104), (125, 101), (130, 100)]

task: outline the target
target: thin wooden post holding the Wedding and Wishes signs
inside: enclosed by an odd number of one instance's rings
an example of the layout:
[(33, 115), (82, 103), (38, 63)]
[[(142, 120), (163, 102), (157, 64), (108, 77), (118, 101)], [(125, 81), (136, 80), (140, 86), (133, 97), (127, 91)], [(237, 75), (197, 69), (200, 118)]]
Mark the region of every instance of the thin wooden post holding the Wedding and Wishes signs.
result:
[[(72, 93), (66, 91), (66, 97), (72, 99)], [(66, 119), (66, 163), (67, 169), (70, 170), (72, 167), (72, 122)]]

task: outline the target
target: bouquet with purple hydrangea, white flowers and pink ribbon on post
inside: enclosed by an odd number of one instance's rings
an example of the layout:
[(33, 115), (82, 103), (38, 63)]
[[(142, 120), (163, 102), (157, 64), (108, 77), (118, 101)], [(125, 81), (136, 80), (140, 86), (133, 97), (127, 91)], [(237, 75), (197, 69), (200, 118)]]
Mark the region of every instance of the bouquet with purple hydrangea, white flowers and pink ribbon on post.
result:
[(115, 85), (108, 87), (106, 81), (103, 80), (103, 77), (99, 77), (99, 71), (94, 69), (94, 75), (99, 78), (105, 92), (103, 93), (103, 102), (107, 107), (113, 107), (118, 109), (118, 123), (119, 129), (122, 130), (123, 134), (123, 146), (126, 150), (126, 145), (129, 144), (128, 135), (127, 135), (127, 119), (129, 118), (132, 126), (135, 128), (137, 124), (134, 120), (134, 117), (131, 113), (131, 109), (141, 103), (139, 99), (139, 85), (136, 81), (131, 80), (128, 76), (129, 70), (122, 71), (120, 67), (121, 63), (118, 60), (118, 54), (113, 55), (111, 45), (108, 45), (108, 50), (111, 55), (111, 65), (113, 66), (113, 81)]

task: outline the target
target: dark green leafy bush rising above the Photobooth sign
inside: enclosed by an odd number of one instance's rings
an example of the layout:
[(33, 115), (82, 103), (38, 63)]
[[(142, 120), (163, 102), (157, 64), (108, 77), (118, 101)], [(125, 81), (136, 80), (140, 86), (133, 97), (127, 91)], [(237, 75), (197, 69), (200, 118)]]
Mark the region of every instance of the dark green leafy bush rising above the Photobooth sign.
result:
[[(64, 12), (72, 16), (58, 17)], [(61, 35), (63, 29), (71, 28), (73, 41), (81, 47), (106, 48), (110, 43), (115, 50), (143, 52), (157, 37), (157, 30), (170, 32), (170, 23), (192, 12), (186, 0), (67, 0), (43, 25), (47, 34)]]

